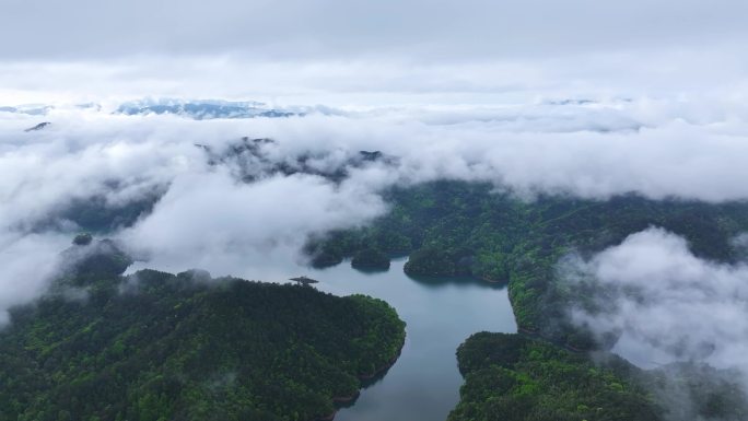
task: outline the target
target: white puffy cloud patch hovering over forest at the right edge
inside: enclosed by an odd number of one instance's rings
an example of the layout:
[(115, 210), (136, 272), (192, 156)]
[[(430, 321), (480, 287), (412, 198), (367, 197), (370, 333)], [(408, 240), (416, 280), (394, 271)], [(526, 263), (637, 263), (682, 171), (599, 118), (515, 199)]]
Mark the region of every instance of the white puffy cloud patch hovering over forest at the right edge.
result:
[[(597, 284), (598, 311), (573, 319), (603, 335), (613, 351), (644, 367), (701, 361), (748, 375), (748, 265), (696, 257), (682, 237), (648, 229), (592, 259), (566, 260), (571, 282)], [(572, 273), (566, 271), (566, 273)]]

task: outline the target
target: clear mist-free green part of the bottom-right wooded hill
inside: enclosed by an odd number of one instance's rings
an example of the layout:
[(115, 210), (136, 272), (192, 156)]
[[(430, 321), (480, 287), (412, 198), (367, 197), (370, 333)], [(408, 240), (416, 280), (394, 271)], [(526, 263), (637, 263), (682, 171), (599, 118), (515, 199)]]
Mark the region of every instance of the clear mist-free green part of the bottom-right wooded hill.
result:
[[(629, 379), (581, 354), (519, 335), (476, 334), (457, 351), (466, 383), (449, 421), (657, 421), (661, 409)], [(615, 367), (616, 364), (610, 364)]]

